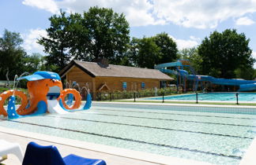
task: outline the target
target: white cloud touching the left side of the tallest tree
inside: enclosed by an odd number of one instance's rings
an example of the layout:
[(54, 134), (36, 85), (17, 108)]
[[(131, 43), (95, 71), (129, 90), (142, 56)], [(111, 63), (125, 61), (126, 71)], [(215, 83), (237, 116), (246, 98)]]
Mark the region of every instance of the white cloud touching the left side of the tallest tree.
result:
[(42, 53), (43, 46), (37, 43), (40, 37), (47, 37), (47, 31), (42, 29), (31, 29), (27, 34), (21, 35), (24, 39), (23, 47), (28, 53)]

